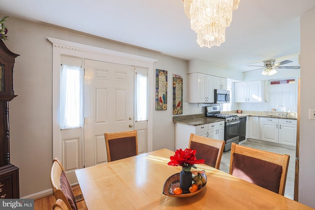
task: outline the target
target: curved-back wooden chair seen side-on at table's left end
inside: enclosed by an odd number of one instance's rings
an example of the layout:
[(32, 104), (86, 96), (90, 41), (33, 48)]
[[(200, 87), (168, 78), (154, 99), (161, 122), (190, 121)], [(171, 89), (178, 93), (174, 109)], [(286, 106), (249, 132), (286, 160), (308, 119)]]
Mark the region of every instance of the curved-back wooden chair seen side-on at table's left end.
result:
[(56, 200), (63, 200), (66, 210), (77, 210), (77, 205), (75, 203), (75, 198), (73, 191), (70, 185), (69, 180), (67, 179), (63, 165), (58, 158), (53, 160), (53, 165), (50, 171), (50, 182), (53, 187), (53, 192)]

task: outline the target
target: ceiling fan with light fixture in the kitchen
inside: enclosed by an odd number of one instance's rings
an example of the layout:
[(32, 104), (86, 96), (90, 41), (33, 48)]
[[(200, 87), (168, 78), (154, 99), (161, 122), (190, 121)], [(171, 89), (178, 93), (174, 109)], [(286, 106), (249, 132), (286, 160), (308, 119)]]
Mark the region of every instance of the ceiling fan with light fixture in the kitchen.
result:
[(291, 60), (284, 60), (281, 61), (279, 63), (275, 63), (276, 60), (264, 60), (263, 66), (260, 65), (248, 65), (248, 66), (258, 66), (258, 67), (263, 67), (263, 68), (257, 68), (257, 69), (253, 69), (250, 71), (255, 71), (255, 70), (259, 70), (259, 69), (265, 69), (261, 72), (262, 75), (266, 75), (266, 76), (271, 76), (277, 73), (276, 68), (287, 68), (287, 69), (300, 69), (300, 66), (281, 66), (284, 65), (286, 63), (290, 63), (293, 62)]

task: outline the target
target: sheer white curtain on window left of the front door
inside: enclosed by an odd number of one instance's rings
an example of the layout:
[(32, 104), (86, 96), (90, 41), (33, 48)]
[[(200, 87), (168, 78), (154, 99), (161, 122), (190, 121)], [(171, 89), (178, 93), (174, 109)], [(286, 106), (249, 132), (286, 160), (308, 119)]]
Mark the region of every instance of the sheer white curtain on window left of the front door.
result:
[(83, 81), (81, 66), (61, 66), (60, 126), (61, 129), (83, 125)]

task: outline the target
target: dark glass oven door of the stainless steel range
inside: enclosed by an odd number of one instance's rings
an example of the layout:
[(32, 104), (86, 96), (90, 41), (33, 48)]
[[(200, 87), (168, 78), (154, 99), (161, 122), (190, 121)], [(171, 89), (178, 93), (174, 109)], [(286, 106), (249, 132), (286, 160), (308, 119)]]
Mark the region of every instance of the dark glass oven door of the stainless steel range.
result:
[(240, 120), (225, 122), (224, 127), (224, 141), (225, 147), (224, 151), (231, 149), (231, 144), (235, 142), (238, 144), (238, 139), (240, 136)]

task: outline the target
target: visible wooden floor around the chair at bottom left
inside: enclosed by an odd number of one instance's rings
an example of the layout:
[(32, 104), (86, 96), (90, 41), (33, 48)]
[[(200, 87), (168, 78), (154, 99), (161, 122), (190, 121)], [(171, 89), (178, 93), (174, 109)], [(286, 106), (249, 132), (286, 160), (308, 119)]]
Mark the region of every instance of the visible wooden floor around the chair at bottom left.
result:
[[(74, 196), (82, 194), (80, 186), (75, 185), (72, 187)], [(56, 199), (54, 195), (47, 196), (44, 198), (36, 199), (34, 201), (34, 210), (52, 210), (53, 205), (55, 204)], [(78, 210), (87, 210), (87, 205), (84, 200), (77, 202)]]

